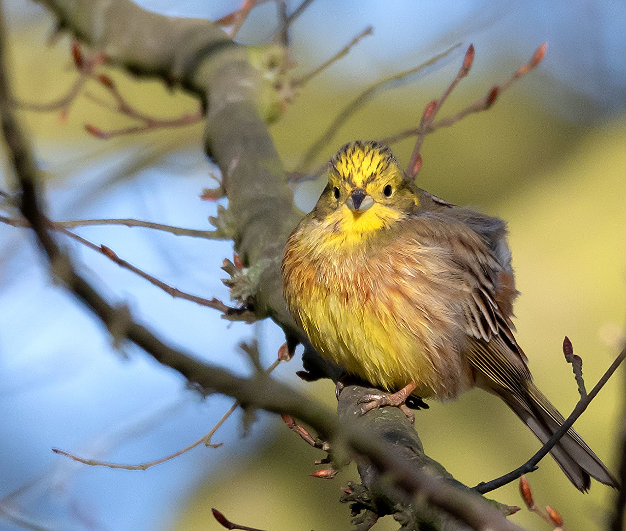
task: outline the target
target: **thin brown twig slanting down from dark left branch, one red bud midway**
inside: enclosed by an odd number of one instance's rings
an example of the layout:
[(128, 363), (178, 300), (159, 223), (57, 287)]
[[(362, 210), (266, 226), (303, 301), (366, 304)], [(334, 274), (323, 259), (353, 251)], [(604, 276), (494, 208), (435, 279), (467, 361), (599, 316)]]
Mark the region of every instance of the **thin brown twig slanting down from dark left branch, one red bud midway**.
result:
[[(6, 225), (12, 225), (12, 226), (21, 226), (21, 227), (30, 226), (27, 221), (15, 220), (13, 218), (8, 218), (6, 216), (0, 216), (0, 223), (5, 223)], [(152, 276), (149, 273), (146, 273), (145, 271), (141, 270), (137, 266), (132, 265), (130, 262), (123, 260), (123, 258), (120, 258), (115, 253), (115, 251), (113, 251), (110, 247), (106, 245), (96, 245), (95, 243), (87, 240), (86, 238), (83, 238), (83, 236), (79, 236), (76, 233), (73, 233), (72, 231), (64, 228), (63, 226), (58, 225), (54, 221), (48, 220), (46, 223), (49, 228), (59, 231), (60, 233), (68, 236), (68, 238), (78, 241), (78, 243), (81, 243), (81, 245), (84, 245), (90, 248), (91, 250), (96, 251), (97, 253), (100, 253), (103, 256), (106, 256), (106, 258), (113, 261), (121, 268), (124, 268), (128, 271), (131, 271), (132, 273), (135, 273), (135, 275), (140, 276), (144, 280), (147, 280), (153, 286), (156, 286), (160, 290), (165, 291), (165, 293), (167, 293), (168, 295), (171, 295), (173, 298), (181, 298), (181, 299), (196, 303), (197, 305), (200, 305), (200, 306), (206, 306), (207, 308), (213, 308), (213, 310), (221, 311), (223, 313), (223, 317), (231, 321), (246, 321), (247, 323), (251, 323), (256, 320), (254, 317), (254, 313), (252, 311), (247, 310), (246, 308), (233, 308), (232, 306), (225, 305), (222, 301), (218, 300), (215, 297), (208, 299), (205, 297), (200, 297), (198, 295), (192, 295), (192, 293), (187, 293), (187, 291), (179, 290), (178, 288), (175, 288), (174, 286), (170, 286), (169, 284), (163, 282), (162, 280), (159, 280), (155, 276)]]

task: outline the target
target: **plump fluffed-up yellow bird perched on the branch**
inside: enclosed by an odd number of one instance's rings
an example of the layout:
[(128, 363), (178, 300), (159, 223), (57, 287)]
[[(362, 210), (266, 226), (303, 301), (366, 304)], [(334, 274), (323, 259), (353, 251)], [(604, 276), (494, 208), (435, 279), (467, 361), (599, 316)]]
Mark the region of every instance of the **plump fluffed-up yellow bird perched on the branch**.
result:
[[(322, 355), (386, 393), (362, 411), (446, 400), (478, 386), (498, 395), (541, 440), (563, 423), (536, 388), (511, 322), (515, 289), (506, 225), (418, 188), (389, 148), (343, 146), (328, 185), (289, 236), (284, 296)], [(583, 492), (618, 487), (570, 429), (552, 450)]]

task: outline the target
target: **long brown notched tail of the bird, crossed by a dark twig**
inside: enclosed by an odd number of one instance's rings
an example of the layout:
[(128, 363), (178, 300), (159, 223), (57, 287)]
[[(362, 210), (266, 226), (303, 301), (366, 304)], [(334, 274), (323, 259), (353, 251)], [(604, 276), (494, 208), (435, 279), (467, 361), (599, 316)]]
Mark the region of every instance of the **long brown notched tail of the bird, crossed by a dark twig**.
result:
[[(565, 419), (533, 382), (525, 382), (524, 387), (526, 393), (521, 397), (517, 393), (498, 394), (535, 433), (541, 443), (545, 443)], [(608, 468), (573, 428), (563, 435), (550, 453), (568, 479), (582, 492), (590, 487), (590, 477), (605, 485), (620, 487)]]

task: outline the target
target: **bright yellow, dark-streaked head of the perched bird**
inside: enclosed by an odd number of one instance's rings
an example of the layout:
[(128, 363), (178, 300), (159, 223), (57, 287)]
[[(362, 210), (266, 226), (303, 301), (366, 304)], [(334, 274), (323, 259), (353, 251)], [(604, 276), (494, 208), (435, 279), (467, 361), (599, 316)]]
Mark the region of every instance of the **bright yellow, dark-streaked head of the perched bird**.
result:
[(413, 213), (419, 203), (416, 190), (391, 149), (356, 141), (331, 159), (328, 185), (314, 214), (336, 233), (372, 233)]

